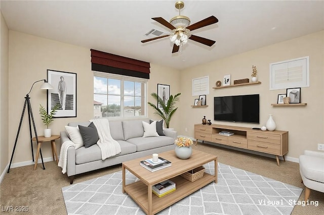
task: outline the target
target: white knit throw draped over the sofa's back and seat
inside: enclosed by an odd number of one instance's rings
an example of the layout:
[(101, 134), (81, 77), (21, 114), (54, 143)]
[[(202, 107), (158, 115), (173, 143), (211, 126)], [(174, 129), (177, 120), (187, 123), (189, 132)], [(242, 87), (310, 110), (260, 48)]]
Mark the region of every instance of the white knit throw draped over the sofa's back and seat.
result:
[(120, 145), (110, 135), (109, 121), (105, 118), (90, 120), (96, 126), (99, 140), (97, 145), (101, 149), (101, 158), (104, 160), (108, 157), (120, 153)]

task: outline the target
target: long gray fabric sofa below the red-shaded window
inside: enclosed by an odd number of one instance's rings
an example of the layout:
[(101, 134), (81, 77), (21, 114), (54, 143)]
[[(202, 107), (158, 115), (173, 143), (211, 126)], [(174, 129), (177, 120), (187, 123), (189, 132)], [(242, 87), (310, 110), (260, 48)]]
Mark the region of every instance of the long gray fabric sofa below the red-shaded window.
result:
[[(142, 121), (149, 123), (149, 119), (109, 121), (110, 134), (119, 143), (121, 152), (105, 160), (102, 160), (101, 150), (97, 144), (88, 148), (82, 146), (76, 150), (73, 146), (69, 147), (67, 150), (66, 174), (70, 179), (70, 184), (73, 183), (74, 176), (77, 174), (121, 164), (127, 160), (175, 148), (176, 131), (163, 129), (166, 136), (143, 137), (144, 128)], [(68, 126), (88, 126), (89, 124), (90, 122), (73, 122), (69, 123)], [(70, 138), (66, 131), (62, 131), (62, 144), (66, 140), (70, 140)]]

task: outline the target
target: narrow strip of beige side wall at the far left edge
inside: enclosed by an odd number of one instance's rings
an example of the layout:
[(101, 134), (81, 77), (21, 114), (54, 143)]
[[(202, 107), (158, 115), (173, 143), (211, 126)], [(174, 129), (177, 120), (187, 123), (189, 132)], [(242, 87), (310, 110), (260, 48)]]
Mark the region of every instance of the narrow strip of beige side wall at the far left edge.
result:
[(0, 73), (0, 175), (8, 165), (8, 76), (9, 76), (9, 29), (1, 14), (1, 73)]

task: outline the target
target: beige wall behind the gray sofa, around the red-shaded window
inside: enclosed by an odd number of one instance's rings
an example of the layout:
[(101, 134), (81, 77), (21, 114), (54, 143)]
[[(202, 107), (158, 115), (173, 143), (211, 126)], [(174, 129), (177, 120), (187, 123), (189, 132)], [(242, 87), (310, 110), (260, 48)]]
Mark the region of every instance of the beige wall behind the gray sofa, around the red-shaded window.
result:
[[(47, 69), (65, 71), (77, 74), (77, 117), (56, 118), (50, 125), (53, 134), (64, 130), (68, 122), (88, 121), (93, 118), (93, 72), (91, 71), (90, 49), (36, 37), (16, 31), (9, 31), (9, 150), (12, 151), (20, 116), (24, 104), (24, 96), (28, 93), (34, 81), (47, 79)], [(178, 74), (177, 74), (178, 73)], [(180, 72), (167, 67), (151, 64), (150, 80), (148, 81), (148, 99), (151, 102), (151, 92), (156, 92), (157, 83), (171, 85), (171, 93), (180, 90), (178, 80)], [(18, 87), (17, 87), (18, 86)], [(39, 104), (46, 106), (47, 94), (39, 90), (41, 82), (36, 83), (29, 94), (37, 134), (43, 135), (45, 126), (38, 114)], [(157, 119), (153, 110), (148, 107), (148, 116)], [(174, 116), (179, 119), (180, 115)], [(171, 126), (177, 128), (177, 122)], [(36, 144), (33, 144), (34, 152)], [(60, 144), (57, 144), (60, 151)], [(50, 144), (42, 145), (43, 157), (51, 157)], [(29, 142), (27, 115), (25, 115), (19, 135), (13, 164), (27, 162), (32, 159)], [(27, 164), (27, 163), (26, 163)]]

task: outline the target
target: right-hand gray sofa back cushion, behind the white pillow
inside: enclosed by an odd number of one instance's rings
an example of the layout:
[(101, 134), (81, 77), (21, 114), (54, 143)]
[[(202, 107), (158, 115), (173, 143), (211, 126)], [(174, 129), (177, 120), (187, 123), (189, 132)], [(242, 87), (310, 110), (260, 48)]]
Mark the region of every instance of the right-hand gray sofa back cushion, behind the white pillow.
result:
[(144, 128), (142, 121), (149, 123), (149, 120), (129, 120), (123, 121), (124, 139), (128, 140), (135, 137), (143, 137)]

